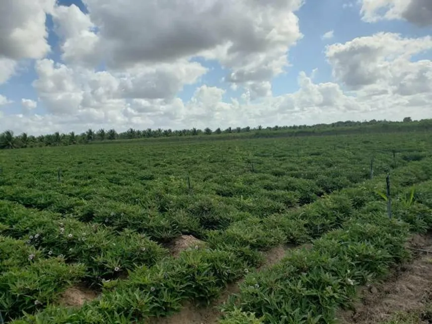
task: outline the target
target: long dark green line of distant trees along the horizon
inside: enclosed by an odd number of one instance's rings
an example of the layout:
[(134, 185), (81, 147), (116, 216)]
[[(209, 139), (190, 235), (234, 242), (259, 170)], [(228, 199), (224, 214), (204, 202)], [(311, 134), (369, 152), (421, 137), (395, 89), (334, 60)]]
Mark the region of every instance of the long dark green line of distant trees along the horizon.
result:
[(204, 130), (193, 128), (191, 130), (162, 130), (162, 129), (146, 129), (135, 130), (130, 128), (123, 132), (117, 132), (114, 129), (110, 130), (92, 130), (88, 129), (80, 134), (75, 134), (73, 131), (69, 134), (63, 134), (58, 131), (53, 134), (33, 136), (27, 133), (15, 135), (12, 130), (5, 130), (0, 133), (0, 149), (11, 149), (21, 147), (35, 146), (59, 146), (59, 145), (74, 145), (87, 144), (90, 142), (106, 142), (116, 139), (134, 139), (134, 138), (163, 138), (175, 136), (205, 136), (206, 138), (230, 137), (278, 137), (278, 136), (308, 136), (308, 135), (332, 135), (332, 134), (348, 134), (348, 133), (364, 133), (364, 132), (388, 132), (388, 131), (431, 131), (432, 119), (424, 119), (421, 121), (413, 121), (411, 117), (405, 117), (403, 122), (388, 122), (384, 121), (345, 121), (332, 124), (318, 124), (313, 126), (293, 125), (293, 126), (273, 126), (263, 128), (261, 125), (256, 128), (246, 126), (244, 128), (228, 127), (225, 130), (217, 128), (215, 131), (207, 127)]

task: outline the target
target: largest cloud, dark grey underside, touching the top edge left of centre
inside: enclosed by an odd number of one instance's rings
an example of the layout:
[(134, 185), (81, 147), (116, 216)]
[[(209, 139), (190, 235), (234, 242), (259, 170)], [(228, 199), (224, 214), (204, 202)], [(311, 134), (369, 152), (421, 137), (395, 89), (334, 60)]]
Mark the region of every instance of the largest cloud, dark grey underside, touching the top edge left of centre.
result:
[(54, 10), (62, 58), (110, 70), (172, 64), (193, 57), (217, 60), (225, 80), (253, 96), (271, 94), (269, 81), (288, 65), (287, 54), (302, 35), (293, 13), (303, 0), (85, 0)]

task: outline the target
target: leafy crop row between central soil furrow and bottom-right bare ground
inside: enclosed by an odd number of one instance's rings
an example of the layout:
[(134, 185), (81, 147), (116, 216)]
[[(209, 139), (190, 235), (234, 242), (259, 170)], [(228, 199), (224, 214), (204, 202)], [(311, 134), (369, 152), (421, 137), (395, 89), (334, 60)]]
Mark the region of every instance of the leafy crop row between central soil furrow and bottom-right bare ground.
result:
[(315, 240), (312, 249), (289, 252), (279, 264), (247, 275), (238, 296), (224, 305), (220, 323), (335, 323), (336, 311), (351, 306), (357, 286), (407, 257), (410, 228), (432, 227), (432, 209), (423, 208), (422, 227), (408, 205), (393, 219), (380, 209), (369, 204), (341, 229)]

